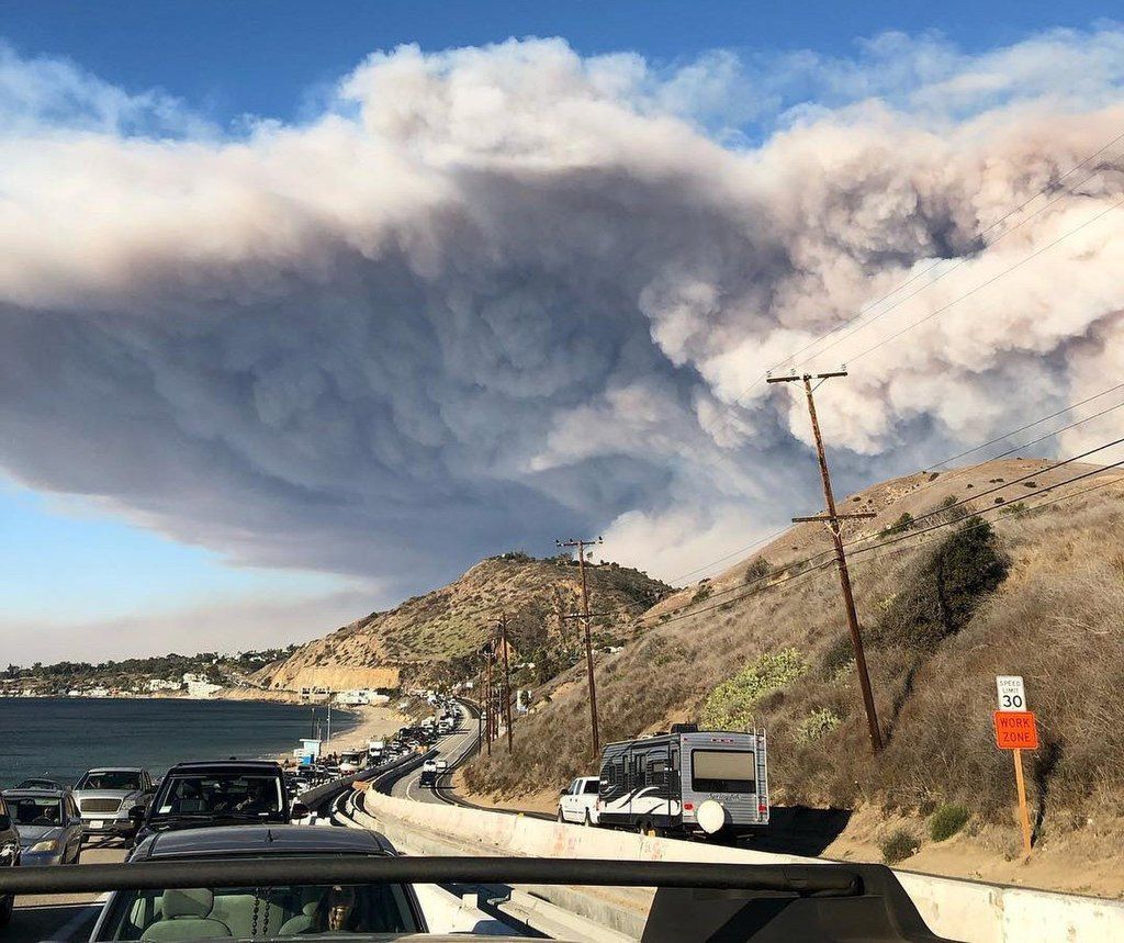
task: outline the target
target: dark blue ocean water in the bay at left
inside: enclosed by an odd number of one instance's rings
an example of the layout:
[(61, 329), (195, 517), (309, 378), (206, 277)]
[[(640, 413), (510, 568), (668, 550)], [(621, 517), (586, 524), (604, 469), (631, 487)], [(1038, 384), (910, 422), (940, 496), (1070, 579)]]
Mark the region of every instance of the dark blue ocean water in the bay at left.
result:
[[(324, 708), (317, 718), (323, 722)], [(332, 732), (359, 722), (332, 711)], [(312, 708), (237, 700), (0, 698), (0, 788), (29, 776), (74, 782), (92, 767), (289, 753), (309, 736)]]

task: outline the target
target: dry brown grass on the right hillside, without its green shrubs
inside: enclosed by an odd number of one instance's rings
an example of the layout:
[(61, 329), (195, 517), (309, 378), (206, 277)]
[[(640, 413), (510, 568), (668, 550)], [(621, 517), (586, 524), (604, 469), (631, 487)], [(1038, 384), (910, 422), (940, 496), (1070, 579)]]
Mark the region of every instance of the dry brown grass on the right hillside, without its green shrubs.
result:
[[(888, 733), (878, 760), (853, 670), (841, 664), (846, 629), (833, 569), (669, 622), (601, 661), (602, 742), (698, 716), (718, 684), (762, 654), (791, 647), (807, 670), (761, 700), (754, 716), (770, 734), (774, 801), (871, 801), (921, 813), (958, 801), (984, 819), (1007, 822), (1013, 777), (1009, 754), (992, 740), (994, 675), (1023, 674), (1042, 737), (1042, 749), (1026, 756), (1040, 828), (1075, 827), (1093, 808), (1124, 813), (1124, 707), (1116, 697), (1124, 680), (1121, 486), (989, 519), (1007, 577), (967, 625), (933, 646), (871, 629), (916, 579), (934, 543), (910, 541), (854, 560)], [(840, 718), (834, 728), (815, 722), (827, 713)], [(500, 750), (491, 762), (478, 759), (465, 781), (477, 792), (513, 796), (589, 770), (587, 717), (584, 684), (559, 690), (517, 725), (513, 758)]]

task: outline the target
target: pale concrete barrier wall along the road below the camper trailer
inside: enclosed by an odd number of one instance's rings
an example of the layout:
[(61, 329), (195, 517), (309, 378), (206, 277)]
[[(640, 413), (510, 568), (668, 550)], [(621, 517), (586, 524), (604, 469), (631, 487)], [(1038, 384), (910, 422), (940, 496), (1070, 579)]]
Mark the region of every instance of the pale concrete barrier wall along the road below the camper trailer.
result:
[[(535, 858), (608, 858), (637, 861), (724, 861), (746, 864), (825, 863), (821, 859), (767, 854), (562, 825), (525, 816), (396, 799), (368, 791), (375, 819), (441, 833), (491, 854)], [(971, 943), (1104, 943), (1124, 940), (1124, 903), (986, 885), (895, 871), (930, 928)]]

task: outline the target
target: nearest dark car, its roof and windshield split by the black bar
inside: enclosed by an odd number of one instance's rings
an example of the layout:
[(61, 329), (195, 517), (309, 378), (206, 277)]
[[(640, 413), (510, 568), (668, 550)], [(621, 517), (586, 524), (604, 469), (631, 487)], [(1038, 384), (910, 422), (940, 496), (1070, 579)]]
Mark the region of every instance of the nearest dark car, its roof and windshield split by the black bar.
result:
[[(190, 861), (193, 871), (208, 862), (284, 856), (395, 856), (382, 835), (366, 829), (309, 828), (303, 825), (250, 825), (161, 832), (142, 841), (129, 864)], [(206, 879), (201, 879), (203, 883)], [(282, 887), (169, 887), (110, 894), (91, 941), (233, 937), (287, 939), (309, 934), (371, 937), (425, 933), (422, 907), (406, 883), (318, 883), (310, 862), (308, 879)], [(382, 939), (381, 936), (379, 939)]]

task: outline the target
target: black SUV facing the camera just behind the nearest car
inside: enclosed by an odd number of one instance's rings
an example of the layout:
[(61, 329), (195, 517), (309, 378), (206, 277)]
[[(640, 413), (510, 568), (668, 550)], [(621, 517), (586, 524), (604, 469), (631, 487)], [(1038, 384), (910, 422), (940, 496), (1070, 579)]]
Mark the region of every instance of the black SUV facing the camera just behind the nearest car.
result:
[(130, 816), (137, 841), (156, 832), (206, 825), (288, 824), (308, 808), (289, 800), (281, 767), (270, 760), (176, 763), (147, 808)]

